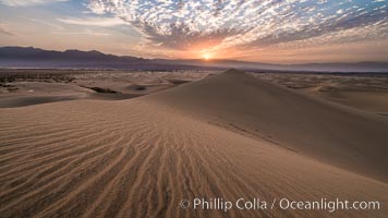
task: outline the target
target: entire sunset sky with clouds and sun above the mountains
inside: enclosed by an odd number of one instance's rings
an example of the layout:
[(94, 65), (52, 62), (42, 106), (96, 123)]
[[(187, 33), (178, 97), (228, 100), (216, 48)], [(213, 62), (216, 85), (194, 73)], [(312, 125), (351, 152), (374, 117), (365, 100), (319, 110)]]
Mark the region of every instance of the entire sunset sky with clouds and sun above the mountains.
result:
[(0, 46), (269, 63), (388, 61), (387, 0), (0, 0)]

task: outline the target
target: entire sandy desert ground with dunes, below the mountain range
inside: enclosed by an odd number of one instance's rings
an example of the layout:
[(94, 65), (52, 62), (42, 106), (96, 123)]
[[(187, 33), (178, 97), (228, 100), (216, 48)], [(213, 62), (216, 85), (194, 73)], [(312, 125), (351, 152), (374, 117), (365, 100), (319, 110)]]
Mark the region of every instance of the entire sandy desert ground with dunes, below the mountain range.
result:
[[(388, 214), (388, 77), (1, 73), (0, 217)], [(194, 198), (340, 198), (380, 208), (223, 211), (194, 209)]]

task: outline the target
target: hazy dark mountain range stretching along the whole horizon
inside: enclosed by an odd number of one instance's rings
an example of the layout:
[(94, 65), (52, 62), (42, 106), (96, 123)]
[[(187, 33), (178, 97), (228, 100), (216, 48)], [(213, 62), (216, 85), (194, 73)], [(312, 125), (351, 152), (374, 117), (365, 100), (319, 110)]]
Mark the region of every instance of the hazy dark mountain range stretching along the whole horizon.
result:
[(34, 47), (0, 47), (0, 68), (82, 68), (133, 70), (223, 70), (388, 72), (388, 62), (269, 64), (238, 60), (143, 59), (106, 55), (100, 51), (44, 50)]

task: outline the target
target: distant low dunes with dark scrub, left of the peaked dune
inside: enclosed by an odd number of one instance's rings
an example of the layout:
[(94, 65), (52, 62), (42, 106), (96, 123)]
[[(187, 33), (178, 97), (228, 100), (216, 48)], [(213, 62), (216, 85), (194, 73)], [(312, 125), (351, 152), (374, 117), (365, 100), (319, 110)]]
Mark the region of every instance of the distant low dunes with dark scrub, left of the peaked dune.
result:
[(0, 108), (76, 99), (130, 99), (201, 80), (208, 73), (0, 69)]

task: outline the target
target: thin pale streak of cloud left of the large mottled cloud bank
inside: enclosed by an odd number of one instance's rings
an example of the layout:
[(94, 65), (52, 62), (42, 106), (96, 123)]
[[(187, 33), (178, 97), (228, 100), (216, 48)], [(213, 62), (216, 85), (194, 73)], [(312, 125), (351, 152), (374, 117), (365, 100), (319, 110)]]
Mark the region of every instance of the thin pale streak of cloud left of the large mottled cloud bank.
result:
[(85, 17), (85, 19), (58, 19), (65, 24), (84, 25), (84, 26), (117, 26), (126, 24), (118, 17)]

